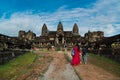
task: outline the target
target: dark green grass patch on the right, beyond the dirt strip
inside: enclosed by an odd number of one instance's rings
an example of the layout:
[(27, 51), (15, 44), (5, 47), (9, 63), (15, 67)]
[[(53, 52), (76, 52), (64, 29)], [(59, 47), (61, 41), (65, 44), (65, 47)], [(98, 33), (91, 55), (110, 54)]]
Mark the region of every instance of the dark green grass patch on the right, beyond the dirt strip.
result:
[(92, 53), (89, 54), (88, 58), (90, 63), (101, 67), (110, 73), (120, 76), (120, 63), (104, 56), (99, 56)]

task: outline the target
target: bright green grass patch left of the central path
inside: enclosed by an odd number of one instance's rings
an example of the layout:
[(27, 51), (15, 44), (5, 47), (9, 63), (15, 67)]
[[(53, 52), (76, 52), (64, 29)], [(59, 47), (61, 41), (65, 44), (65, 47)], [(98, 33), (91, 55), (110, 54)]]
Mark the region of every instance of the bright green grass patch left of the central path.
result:
[(20, 75), (22, 70), (29, 69), (28, 67), (33, 63), (34, 59), (35, 54), (26, 53), (0, 65), (0, 79), (8, 80)]

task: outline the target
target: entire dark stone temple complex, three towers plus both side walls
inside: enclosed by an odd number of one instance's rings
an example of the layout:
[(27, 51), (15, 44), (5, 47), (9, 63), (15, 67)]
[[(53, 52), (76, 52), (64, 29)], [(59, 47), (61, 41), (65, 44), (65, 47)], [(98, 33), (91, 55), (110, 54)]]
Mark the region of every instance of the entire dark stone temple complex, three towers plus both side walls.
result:
[[(20, 30), (18, 36), (8, 36), (0, 34), (0, 64), (8, 59), (14, 58), (15, 56), (22, 54), (22, 51), (28, 51), (32, 49), (38, 50), (65, 50), (65, 45), (67, 50), (78, 43), (80, 47), (86, 46), (89, 52), (104, 55), (109, 58), (114, 58), (120, 61), (120, 34), (110, 37), (104, 37), (103, 31), (93, 31), (88, 30), (81, 36), (79, 33), (79, 27), (75, 23), (71, 31), (64, 30), (61, 22), (58, 23), (56, 31), (49, 31), (49, 27), (43, 24), (41, 29), (41, 34), (36, 36), (32, 31)], [(69, 27), (68, 27), (69, 28)], [(11, 52), (10, 52), (11, 51)], [(5, 53), (3, 53), (5, 52)]]

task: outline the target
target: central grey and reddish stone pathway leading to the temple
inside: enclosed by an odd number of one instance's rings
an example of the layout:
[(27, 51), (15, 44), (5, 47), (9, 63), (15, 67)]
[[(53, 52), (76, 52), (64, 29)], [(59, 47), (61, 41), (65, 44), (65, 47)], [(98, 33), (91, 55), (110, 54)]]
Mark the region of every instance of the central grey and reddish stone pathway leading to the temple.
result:
[(74, 68), (65, 59), (64, 54), (57, 53), (49, 69), (38, 80), (80, 80)]

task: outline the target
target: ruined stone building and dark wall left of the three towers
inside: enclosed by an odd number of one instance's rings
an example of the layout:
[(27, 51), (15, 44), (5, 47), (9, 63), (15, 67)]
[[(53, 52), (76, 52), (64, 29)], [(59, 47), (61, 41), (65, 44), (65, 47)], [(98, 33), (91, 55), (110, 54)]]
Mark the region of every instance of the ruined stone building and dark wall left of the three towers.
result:
[(36, 35), (32, 31), (19, 31), (18, 37), (0, 34), (0, 50), (31, 48)]

